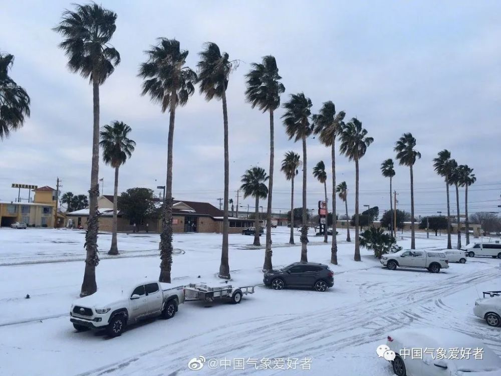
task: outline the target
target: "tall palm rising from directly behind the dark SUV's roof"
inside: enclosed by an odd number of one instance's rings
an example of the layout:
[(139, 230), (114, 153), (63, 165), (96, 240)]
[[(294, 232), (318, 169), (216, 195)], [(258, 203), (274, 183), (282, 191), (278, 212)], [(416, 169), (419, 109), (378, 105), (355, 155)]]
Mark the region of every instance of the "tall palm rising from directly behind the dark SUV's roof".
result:
[[(285, 113), (282, 115), (289, 139), (303, 142), (303, 226), (301, 227), (301, 262), (308, 262), (308, 225), (306, 214), (306, 138), (312, 133), (310, 124), (312, 101), (304, 93), (291, 94), (289, 102), (284, 103)], [(291, 224), (292, 226), (292, 224)]]

